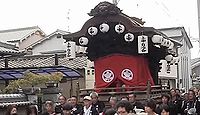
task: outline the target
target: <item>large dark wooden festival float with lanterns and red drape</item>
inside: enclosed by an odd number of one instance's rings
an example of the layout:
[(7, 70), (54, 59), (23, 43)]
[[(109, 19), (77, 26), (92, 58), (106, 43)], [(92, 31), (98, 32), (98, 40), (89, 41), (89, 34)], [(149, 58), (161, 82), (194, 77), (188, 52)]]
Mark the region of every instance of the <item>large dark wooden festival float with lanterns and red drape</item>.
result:
[(146, 95), (158, 88), (159, 62), (172, 60), (174, 43), (157, 29), (144, 27), (141, 19), (122, 13), (109, 2), (99, 3), (88, 15), (91, 18), (80, 31), (63, 38), (67, 44), (87, 47), (86, 55), (94, 62), (94, 90), (105, 95), (147, 91)]

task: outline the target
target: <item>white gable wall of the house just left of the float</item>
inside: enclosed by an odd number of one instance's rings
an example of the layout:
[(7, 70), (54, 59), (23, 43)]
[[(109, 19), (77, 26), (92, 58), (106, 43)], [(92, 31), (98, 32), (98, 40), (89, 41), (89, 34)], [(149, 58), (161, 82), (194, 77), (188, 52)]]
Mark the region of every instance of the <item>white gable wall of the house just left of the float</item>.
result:
[(47, 40), (43, 41), (41, 44), (33, 47), (33, 55), (41, 54), (42, 52), (66, 50), (66, 46), (64, 45), (65, 40), (62, 38), (62, 36), (57, 37), (57, 35), (53, 35), (51, 38), (46, 39)]

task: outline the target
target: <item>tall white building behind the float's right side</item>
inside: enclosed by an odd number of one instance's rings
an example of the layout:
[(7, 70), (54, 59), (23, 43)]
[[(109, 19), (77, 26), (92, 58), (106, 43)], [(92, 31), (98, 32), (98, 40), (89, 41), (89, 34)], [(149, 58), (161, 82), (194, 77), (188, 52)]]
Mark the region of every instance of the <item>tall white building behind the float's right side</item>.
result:
[(178, 74), (176, 78), (176, 84), (177, 88), (184, 88), (188, 90), (190, 87), (192, 87), (190, 49), (193, 46), (190, 38), (188, 37), (184, 27), (162, 28), (159, 30), (182, 45), (182, 47), (178, 48), (177, 51), (179, 61), (177, 67)]

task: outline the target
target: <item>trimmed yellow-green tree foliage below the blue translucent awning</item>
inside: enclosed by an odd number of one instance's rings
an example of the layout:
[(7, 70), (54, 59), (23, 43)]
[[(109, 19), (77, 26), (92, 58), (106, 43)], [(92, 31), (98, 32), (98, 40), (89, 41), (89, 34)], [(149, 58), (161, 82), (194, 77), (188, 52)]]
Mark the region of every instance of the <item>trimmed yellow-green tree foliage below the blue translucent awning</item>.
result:
[(27, 86), (37, 86), (45, 84), (47, 82), (59, 83), (63, 78), (62, 73), (54, 73), (52, 75), (37, 75), (31, 72), (24, 74), (23, 79), (13, 80), (9, 85), (3, 90), (3, 93), (13, 93), (17, 91), (18, 88)]

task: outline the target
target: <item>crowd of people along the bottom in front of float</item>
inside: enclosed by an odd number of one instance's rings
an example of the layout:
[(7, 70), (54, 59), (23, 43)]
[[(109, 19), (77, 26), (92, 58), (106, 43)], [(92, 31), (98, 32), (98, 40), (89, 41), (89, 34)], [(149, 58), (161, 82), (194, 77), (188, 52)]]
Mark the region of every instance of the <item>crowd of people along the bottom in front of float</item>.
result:
[[(162, 94), (161, 100), (136, 100), (136, 94), (130, 93), (118, 99), (109, 97), (106, 105), (99, 100), (98, 93), (92, 92), (78, 102), (76, 96), (58, 97), (59, 104), (48, 100), (42, 115), (200, 115), (200, 90), (190, 89), (181, 93), (179, 89), (171, 89), (169, 94)], [(17, 115), (16, 106), (10, 106), (6, 115)], [(27, 115), (38, 115), (33, 105), (27, 107)]]

